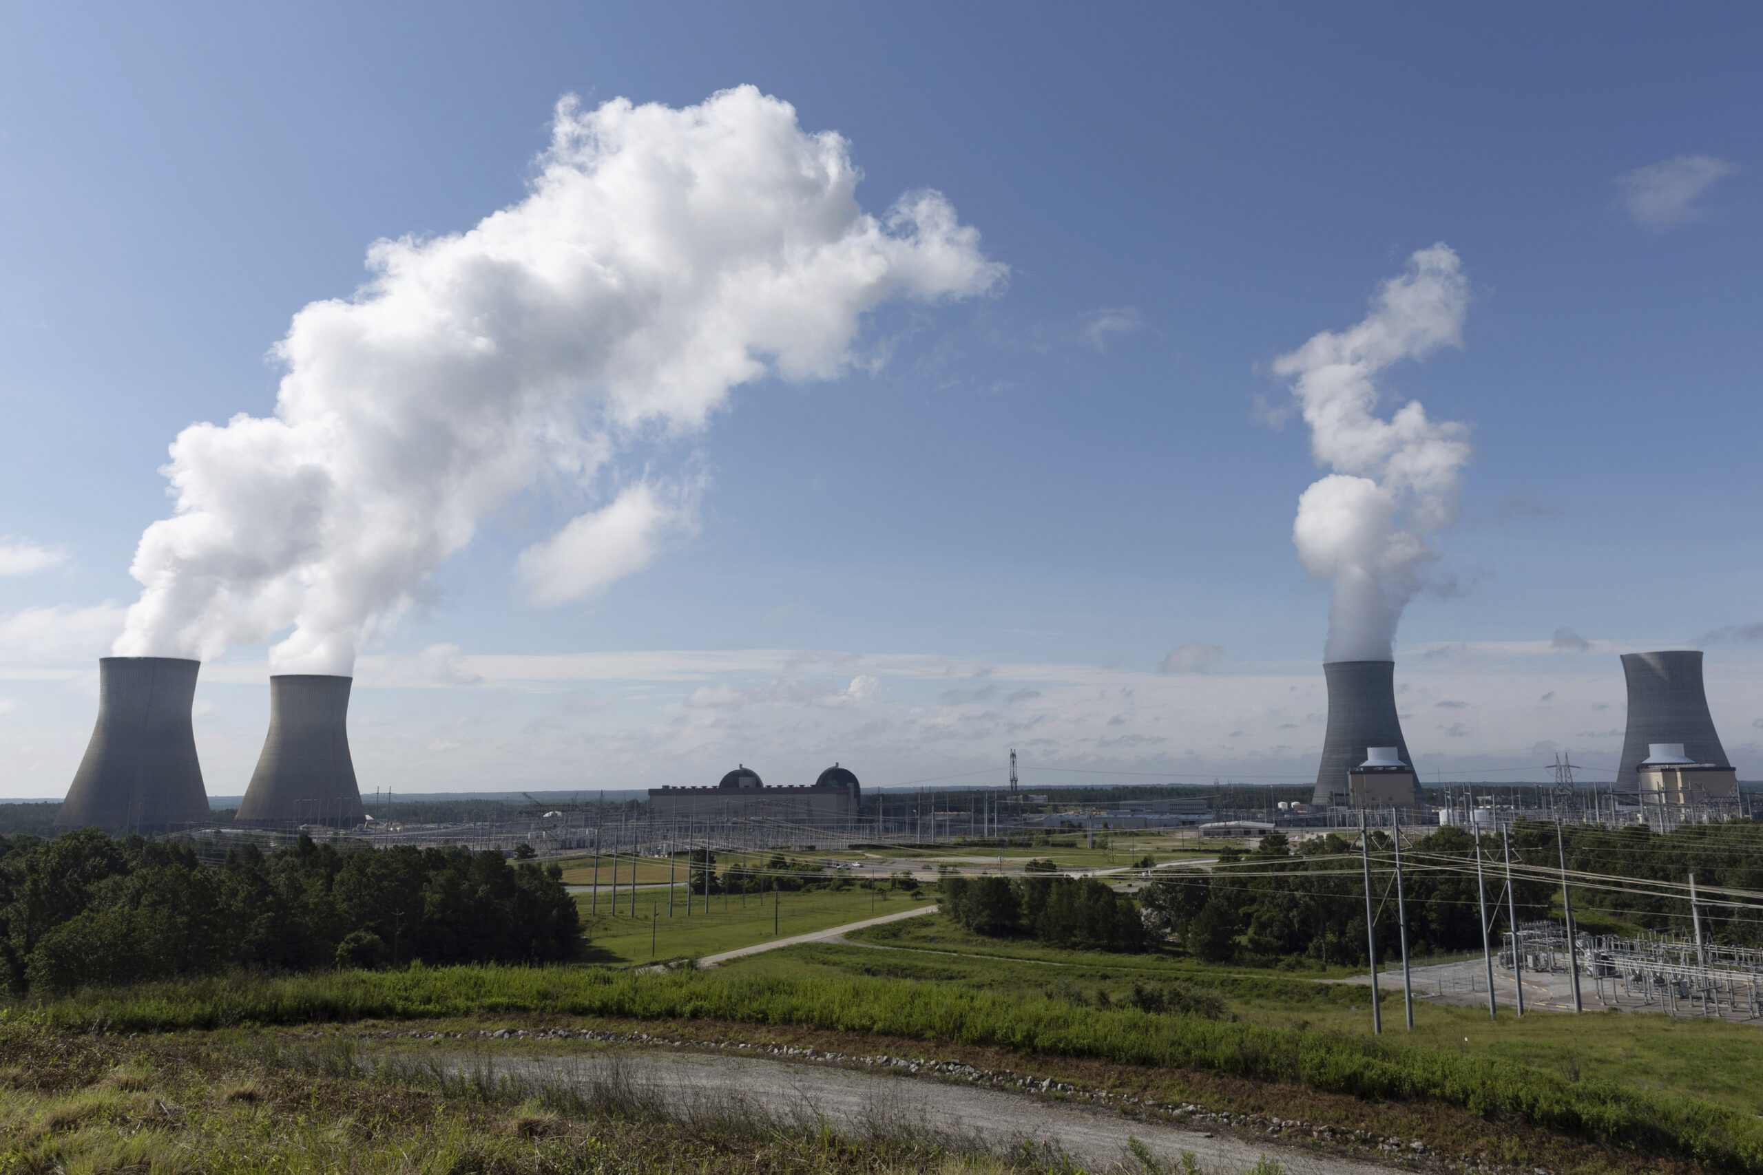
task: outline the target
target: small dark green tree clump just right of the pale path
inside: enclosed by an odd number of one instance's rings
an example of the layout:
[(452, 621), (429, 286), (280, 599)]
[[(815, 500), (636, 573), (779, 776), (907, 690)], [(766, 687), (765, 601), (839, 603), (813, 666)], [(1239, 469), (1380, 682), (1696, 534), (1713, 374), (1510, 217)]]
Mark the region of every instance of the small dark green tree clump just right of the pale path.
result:
[(977, 934), (1028, 934), (1081, 951), (1144, 950), (1139, 907), (1095, 877), (945, 874), (938, 909)]

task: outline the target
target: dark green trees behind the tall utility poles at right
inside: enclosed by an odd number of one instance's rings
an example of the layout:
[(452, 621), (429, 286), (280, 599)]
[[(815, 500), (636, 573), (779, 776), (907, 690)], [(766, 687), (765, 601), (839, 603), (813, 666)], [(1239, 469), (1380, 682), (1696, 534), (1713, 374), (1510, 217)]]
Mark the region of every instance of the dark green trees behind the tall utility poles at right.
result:
[[(1553, 849), (1553, 824), (1548, 830)], [(1523, 826), (1520, 826), (1523, 831)], [(1516, 842), (1516, 839), (1514, 839)], [(1500, 849), (1484, 839), (1483, 853)], [(1536, 846), (1521, 846), (1536, 853)], [(1476, 840), (1458, 828), (1440, 828), (1403, 849), (1403, 891), (1409, 950), (1462, 951), (1481, 948), (1476, 895)], [(1396, 891), (1387, 835), (1372, 833), (1372, 902), (1377, 951), (1396, 950)], [(1520, 921), (1543, 918), (1557, 893), (1546, 881), (1514, 883)], [(1338, 833), (1306, 840), (1296, 851), (1280, 833), (1262, 837), (1253, 853), (1225, 849), (1209, 874), (1164, 876), (1142, 895), (1146, 923), (1157, 935), (1174, 935), (1192, 955), (1227, 962), (1306, 957), (1320, 964), (1365, 958), (1365, 874), (1356, 846)], [(1486, 867), (1486, 900), (1495, 934), (1506, 925), (1504, 874)]]

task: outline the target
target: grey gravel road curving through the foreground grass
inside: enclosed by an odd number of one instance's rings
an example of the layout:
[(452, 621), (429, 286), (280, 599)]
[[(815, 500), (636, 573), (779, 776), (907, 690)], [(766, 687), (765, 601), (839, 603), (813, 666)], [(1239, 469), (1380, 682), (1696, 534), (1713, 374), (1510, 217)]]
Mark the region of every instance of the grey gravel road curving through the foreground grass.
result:
[(1162, 1159), (1192, 1150), (1208, 1175), (1246, 1171), (1262, 1156), (1278, 1159), (1292, 1175), (1387, 1171), (1372, 1163), (1280, 1145), (1271, 1138), (1262, 1145), (1028, 1094), (762, 1057), (621, 1050), (497, 1057), (495, 1071), (517, 1080), (564, 1083), (589, 1101), (635, 1103), (686, 1120), (732, 1113), (786, 1126), (827, 1122), (844, 1134), (936, 1131), (954, 1142), (984, 1142), (984, 1149), (1014, 1147), (1023, 1140), (1053, 1143), (1091, 1171), (1142, 1171), (1137, 1163), (1123, 1163), (1128, 1136)]

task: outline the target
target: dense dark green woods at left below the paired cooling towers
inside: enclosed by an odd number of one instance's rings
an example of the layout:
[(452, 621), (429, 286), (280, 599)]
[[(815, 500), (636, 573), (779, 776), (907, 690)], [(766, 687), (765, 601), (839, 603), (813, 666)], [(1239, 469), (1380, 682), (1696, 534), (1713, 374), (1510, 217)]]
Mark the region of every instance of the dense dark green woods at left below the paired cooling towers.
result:
[(338, 853), (309, 837), (219, 868), (175, 840), (86, 828), (0, 840), (0, 957), (14, 992), (233, 969), (548, 962), (580, 921), (561, 872), (501, 853)]

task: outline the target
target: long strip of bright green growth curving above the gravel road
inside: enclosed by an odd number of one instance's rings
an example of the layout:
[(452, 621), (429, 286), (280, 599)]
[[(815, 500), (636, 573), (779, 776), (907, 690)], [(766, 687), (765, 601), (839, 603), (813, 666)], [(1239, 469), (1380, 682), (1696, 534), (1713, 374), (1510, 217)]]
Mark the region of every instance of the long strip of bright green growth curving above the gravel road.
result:
[(192, 979), (83, 992), (26, 1015), (113, 1032), (497, 1013), (712, 1018), (1183, 1068), (1384, 1099), (1437, 1099), (1486, 1117), (1710, 1166), (1763, 1173), (1763, 1120), (1691, 1097), (1527, 1064), (1195, 1015), (1081, 1008), (1061, 999), (908, 979), (635, 974), (573, 967), (346, 971), (234, 983)]

